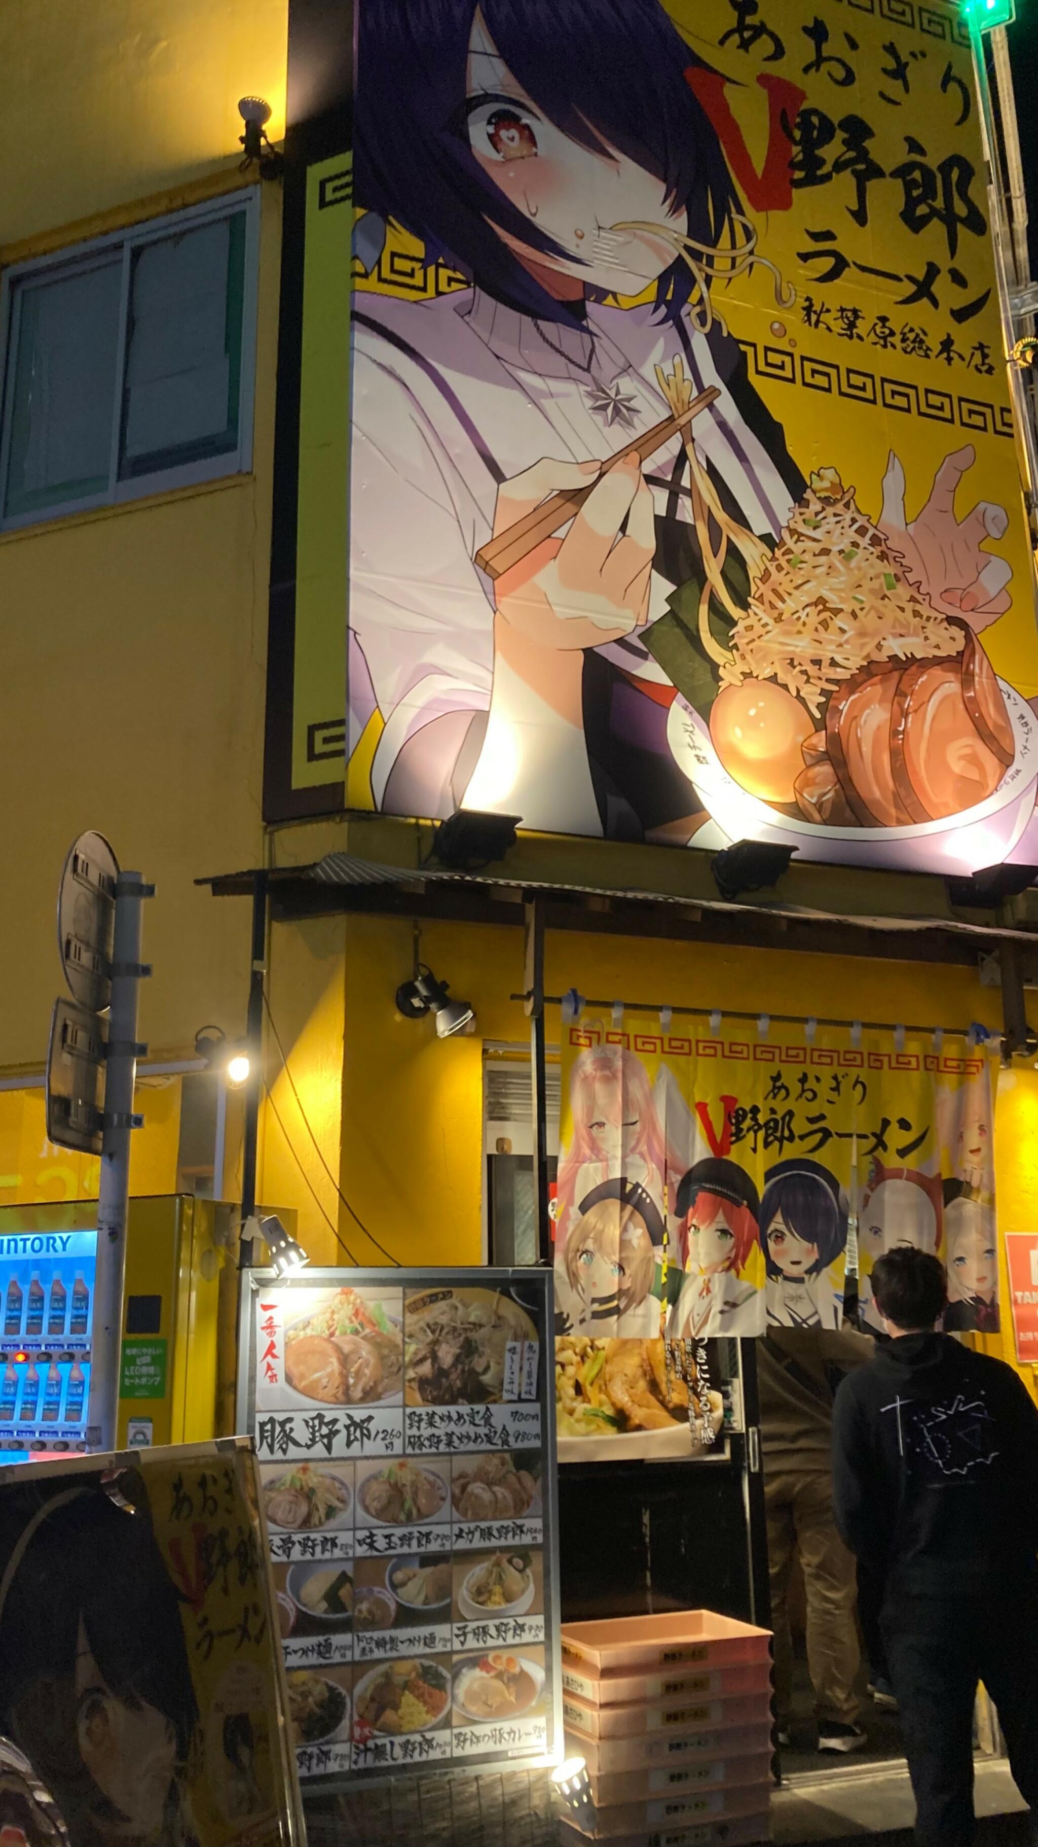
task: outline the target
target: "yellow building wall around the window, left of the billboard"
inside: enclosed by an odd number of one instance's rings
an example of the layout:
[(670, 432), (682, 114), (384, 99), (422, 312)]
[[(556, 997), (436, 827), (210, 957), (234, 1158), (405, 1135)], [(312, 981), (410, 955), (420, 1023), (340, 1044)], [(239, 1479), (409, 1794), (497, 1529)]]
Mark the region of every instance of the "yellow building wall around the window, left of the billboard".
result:
[[(0, 266), (244, 183), (238, 96), (283, 133), (286, 0), (6, 0)], [(247, 905), (194, 879), (259, 864), (281, 188), (262, 188), (253, 469), (0, 536), (0, 1069), (39, 1071), (54, 903), (83, 827), (157, 887), (140, 1038), (244, 1031)], [(26, 1105), (31, 1112), (31, 1101)], [(7, 1164), (0, 1164), (7, 1167)]]

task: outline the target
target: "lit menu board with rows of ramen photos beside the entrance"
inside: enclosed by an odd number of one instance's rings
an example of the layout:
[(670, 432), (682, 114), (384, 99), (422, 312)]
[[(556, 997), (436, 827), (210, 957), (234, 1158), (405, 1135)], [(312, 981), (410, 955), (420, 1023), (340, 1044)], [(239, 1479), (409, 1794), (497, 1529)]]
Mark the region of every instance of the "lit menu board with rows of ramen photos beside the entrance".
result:
[(561, 1745), (547, 1271), (244, 1278), (238, 1428), (307, 1786)]

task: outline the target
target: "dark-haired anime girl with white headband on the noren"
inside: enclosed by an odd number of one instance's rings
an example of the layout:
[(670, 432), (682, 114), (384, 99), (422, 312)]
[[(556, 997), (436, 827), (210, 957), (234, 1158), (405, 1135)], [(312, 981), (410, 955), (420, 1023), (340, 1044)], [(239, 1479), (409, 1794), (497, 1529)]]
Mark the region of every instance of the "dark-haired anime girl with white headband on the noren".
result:
[(783, 1160), (765, 1175), (761, 1250), (772, 1328), (839, 1328), (842, 1295), (826, 1271), (846, 1250), (848, 1202), (816, 1160)]

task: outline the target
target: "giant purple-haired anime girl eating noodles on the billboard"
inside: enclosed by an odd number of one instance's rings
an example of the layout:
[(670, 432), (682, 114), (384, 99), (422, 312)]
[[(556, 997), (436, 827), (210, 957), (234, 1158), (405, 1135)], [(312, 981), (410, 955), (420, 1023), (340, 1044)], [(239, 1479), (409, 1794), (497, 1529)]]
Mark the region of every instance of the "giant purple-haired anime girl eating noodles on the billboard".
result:
[[(698, 68), (659, 0), (358, 0), (358, 259), (375, 268), (393, 220), (419, 272), (469, 283), (353, 303), (349, 754), (379, 715), (379, 809), (674, 844), (706, 820), (652, 630), (717, 569), (709, 534), (770, 547), (803, 477), (711, 308), (711, 277), (763, 259)], [(694, 441), (600, 475), (676, 380), (718, 392)], [(477, 567), (587, 484), (565, 536), (495, 582)], [(962, 537), (946, 501), (942, 584)], [(973, 554), (977, 578), (992, 558)]]

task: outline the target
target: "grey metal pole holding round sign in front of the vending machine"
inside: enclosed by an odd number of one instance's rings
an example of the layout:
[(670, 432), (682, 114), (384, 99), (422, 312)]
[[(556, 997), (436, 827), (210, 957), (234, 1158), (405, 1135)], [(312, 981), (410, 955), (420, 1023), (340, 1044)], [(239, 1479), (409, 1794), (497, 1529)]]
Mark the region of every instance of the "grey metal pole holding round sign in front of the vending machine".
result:
[(140, 903), (155, 890), (139, 872), (120, 872), (115, 887), (115, 936), (105, 1064), (105, 1127), (98, 1186), (98, 1271), (94, 1282), (94, 1337), (87, 1443), (92, 1450), (118, 1444), (118, 1358), (122, 1343), (122, 1287), (126, 1274), (126, 1212), (129, 1204), (129, 1136), (142, 1117), (133, 1114), (137, 1058), (137, 990), (151, 970), (140, 962)]

